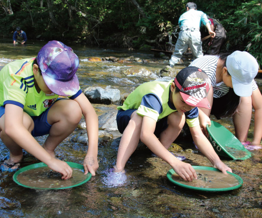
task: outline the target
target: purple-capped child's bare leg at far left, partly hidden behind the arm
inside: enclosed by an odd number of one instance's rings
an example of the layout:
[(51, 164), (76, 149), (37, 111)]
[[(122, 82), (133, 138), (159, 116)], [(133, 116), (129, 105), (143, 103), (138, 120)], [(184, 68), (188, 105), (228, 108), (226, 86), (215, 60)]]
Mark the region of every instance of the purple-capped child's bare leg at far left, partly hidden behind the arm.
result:
[[(31, 133), (34, 129), (34, 122), (32, 118), (23, 113), (23, 125), (25, 128)], [(9, 136), (5, 133), (5, 115), (0, 118), (0, 138), (2, 139), (5, 146), (10, 151), (10, 159), (7, 161), (8, 163), (19, 163), (23, 159), (23, 149), (17, 145)]]

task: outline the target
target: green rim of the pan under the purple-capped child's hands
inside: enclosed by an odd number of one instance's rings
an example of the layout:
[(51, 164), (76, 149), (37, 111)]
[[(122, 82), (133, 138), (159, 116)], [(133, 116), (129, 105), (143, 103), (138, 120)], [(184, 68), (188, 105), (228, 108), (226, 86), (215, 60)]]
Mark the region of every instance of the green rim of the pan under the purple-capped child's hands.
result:
[[(78, 163), (73, 163), (73, 162), (67, 162), (67, 164), (68, 164), (70, 167), (72, 167), (72, 168), (80, 169), (81, 171), (83, 170), (83, 174), (84, 174), (84, 166), (83, 166), (83, 165), (78, 164)], [(85, 177), (84, 177), (81, 181), (77, 181), (77, 182), (76, 182), (75, 184), (73, 184), (73, 185), (71, 184), (71, 185), (66, 185), (66, 186), (62, 186), (62, 187), (41, 187), (41, 186), (40, 186), (40, 187), (39, 187), (39, 186), (33, 187), (33, 186), (28, 186), (28, 185), (26, 185), (26, 184), (23, 184), (23, 183), (21, 183), (21, 182), (17, 179), (17, 177), (18, 177), (19, 174), (21, 174), (21, 173), (23, 173), (23, 172), (26, 172), (26, 171), (28, 171), (28, 170), (37, 169), (37, 168), (41, 168), (41, 167), (47, 167), (47, 165), (41, 162), (41, 163), (36, 163), (36, 164), (32, 164), (32, 165), (23, 167), (23, 168), (21, 168), (20, 170), (18, 170), (18, 171), (14, 174), (13, 179), (14, 179), (14, 181), (15, 181), (17, 184), (22, 185), (22, 186), (24, 186), (24, 187), (26, 187), (26, 188), (34, 188), (34, 189), (65, 189), (65, 188), (72, 188), (72, 187), (76, 187), (76, 186), (82, 185), (82, 184), (86, 183), (87, 181), (89, 181), (89, 180), (91, 179), (91, 177), (92, 177), (92, 174), (91, 174), (91, 173), (88, 173), (87, 175), (85, 175)], [(73, 176), (74, 176), (74, 172), (73, 172)], [(73, 178), (73, 176), (72, 176), (72, 178)], [(72, 179), (72, 178), (71, 178), (71, 179)], [(69, 181), (70, 181), (70, 179), (69, 179)]]

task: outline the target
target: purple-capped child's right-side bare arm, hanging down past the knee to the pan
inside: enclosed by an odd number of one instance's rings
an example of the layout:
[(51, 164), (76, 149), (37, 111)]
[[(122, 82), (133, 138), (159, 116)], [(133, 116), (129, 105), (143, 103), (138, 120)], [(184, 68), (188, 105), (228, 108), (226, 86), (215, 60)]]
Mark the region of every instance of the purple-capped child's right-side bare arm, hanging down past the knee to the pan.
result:
[(83, 93), (74, 100), (79, 103), (86, 120), (88, 151), (84, 160), (85, 174), (90, 172), (94, 176), (98, 169), (98, 117), (94, 107)]

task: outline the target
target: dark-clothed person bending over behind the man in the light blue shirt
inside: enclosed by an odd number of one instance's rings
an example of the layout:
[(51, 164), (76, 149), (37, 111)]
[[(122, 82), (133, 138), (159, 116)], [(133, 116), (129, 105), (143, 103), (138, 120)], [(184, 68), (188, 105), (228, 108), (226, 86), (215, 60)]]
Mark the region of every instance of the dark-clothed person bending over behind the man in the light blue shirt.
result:
[(215, 55), (219, 54), (222, 45), (225, 43), (227, 38), (227, 31), (218, 20), (213, 18), (209, 18), (209, 20), (211, 22), (211, 30), (216, 33), (216, 36), (211, 39), (209, 43), (209, 46), (211, 48), (208, 54)]

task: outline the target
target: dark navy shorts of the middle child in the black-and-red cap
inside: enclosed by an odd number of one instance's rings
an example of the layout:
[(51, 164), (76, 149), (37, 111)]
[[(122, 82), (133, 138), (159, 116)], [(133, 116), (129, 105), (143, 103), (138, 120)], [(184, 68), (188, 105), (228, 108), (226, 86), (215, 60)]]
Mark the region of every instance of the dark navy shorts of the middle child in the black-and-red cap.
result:
[[(137, 110), (136, 109), (128, 109), (128, 110), (124, 111), (124, 110), (121, 109), (117, 112), (116, 124), (117, 124), (117, 129), (121, 134), (123, 134), (125, 128), (127, 127), (128, 123), (131, 119), (131, 115), (135, 111), (137, 111)], [(164, 117), (161, 120), (159, 120), (156, 123), (156, 129), (155, 129), (155, 132), (154, 132), (156, 137), (159, 138), (160, 133), (162, 133), (167, 127), (168, 127), (167, 117)]]

